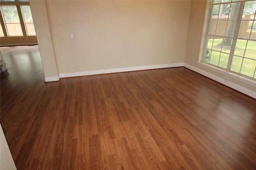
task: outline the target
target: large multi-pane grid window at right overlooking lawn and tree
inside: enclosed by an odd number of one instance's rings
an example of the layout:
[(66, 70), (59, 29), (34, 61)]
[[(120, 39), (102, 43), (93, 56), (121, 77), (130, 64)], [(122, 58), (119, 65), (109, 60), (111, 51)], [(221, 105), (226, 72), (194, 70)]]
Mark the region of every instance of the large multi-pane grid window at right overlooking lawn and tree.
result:
[(256, 79), (256, 0), (212, 0), (203, 62)]

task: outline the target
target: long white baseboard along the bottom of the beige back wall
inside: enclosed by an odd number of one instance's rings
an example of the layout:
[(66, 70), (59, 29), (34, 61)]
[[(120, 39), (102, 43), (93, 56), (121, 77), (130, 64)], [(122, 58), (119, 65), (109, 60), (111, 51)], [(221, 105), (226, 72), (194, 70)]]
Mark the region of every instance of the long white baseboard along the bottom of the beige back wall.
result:
[(114, 68), (114, 69), (106, 69), (106, 70), (83, 71), (83, 72), (75, 72), (75, 73), (70, 72), (70, 73), (60, 74), (60, 78), (76, 77), (76, 76), (89, 76), (89, 75), (97, 75), (97, 74), (108, 74), (108, 73), (115, 73), (115, 72), (150, 70), (150, 69), (157, 69), (157, 68), (170, 68), (170, 67), (179, 67), (179, 66), (183, 66), (183, 65), (184, 65), (184, 63), (173, 63), (173, 64), (127, 67), (127, 68)]

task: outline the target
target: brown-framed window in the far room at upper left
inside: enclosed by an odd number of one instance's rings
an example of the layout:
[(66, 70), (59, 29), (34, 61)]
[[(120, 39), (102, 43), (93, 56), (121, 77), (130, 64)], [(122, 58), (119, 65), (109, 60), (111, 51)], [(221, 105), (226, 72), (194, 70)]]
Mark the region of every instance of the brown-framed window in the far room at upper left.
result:
[(28, 0), (0, 0), (1, 28), (0, 36), (36, 35)]

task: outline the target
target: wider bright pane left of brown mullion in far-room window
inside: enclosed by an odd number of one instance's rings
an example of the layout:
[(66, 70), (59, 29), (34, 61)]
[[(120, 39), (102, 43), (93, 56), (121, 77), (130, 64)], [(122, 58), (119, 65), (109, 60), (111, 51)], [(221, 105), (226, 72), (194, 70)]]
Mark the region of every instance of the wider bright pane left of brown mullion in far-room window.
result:
[(7, 34), (23, 35), (16, 6), (1, 6)]

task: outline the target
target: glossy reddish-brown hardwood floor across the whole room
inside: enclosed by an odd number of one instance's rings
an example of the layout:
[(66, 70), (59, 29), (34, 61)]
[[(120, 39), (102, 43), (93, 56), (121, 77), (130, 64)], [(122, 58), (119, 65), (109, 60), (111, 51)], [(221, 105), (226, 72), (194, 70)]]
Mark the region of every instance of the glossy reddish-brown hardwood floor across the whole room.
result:
[(256, 100), (184, 67), (44, 83), (2, 48), (1, 125), (18, 170), (256, 167)]

